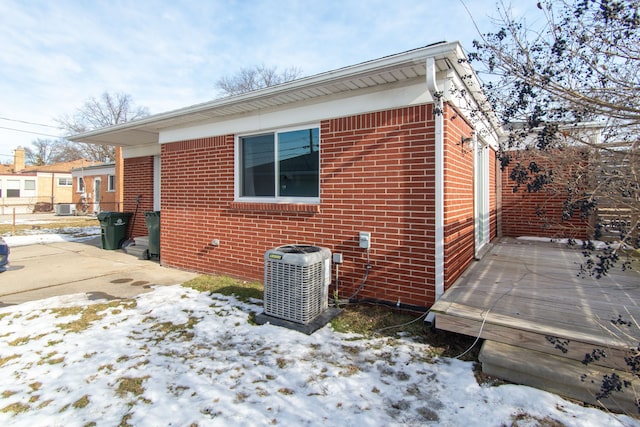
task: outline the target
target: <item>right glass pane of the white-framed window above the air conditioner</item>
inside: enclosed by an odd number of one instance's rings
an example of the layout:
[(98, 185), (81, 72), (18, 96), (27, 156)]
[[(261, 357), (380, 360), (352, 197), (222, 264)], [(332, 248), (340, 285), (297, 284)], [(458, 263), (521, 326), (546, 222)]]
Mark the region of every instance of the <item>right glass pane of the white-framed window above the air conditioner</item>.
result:
[(278, 134), (280, 196), (318, 197), (319, 151), (317, 128)]

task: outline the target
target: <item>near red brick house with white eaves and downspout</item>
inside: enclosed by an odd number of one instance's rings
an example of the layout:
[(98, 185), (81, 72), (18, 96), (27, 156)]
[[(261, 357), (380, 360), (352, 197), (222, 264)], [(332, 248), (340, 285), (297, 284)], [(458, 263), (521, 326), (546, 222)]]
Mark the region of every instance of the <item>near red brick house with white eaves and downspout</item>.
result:
[(426, 308), (497, 234), (479, 88), (439, 43), (71, 139), (123, 147), (124, 208), (161, 211), (163, 265), (261, 280), (268, 249), (312, 244), (343, 255), (341, 298)]

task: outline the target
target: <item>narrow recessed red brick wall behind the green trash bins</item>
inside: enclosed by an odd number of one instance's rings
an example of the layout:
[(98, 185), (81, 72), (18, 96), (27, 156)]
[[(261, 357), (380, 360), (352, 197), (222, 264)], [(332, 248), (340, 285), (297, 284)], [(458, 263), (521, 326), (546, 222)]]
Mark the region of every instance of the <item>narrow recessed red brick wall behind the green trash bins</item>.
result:
[(124, 176), (123, 212), (135, 213), (136, 197), (140, 196), (138, 214), (129, 221), (128, 233), (133, 237), (146, 236), (149, 232), (144, 212), (153, 210), (153, 156), (124, 159)]

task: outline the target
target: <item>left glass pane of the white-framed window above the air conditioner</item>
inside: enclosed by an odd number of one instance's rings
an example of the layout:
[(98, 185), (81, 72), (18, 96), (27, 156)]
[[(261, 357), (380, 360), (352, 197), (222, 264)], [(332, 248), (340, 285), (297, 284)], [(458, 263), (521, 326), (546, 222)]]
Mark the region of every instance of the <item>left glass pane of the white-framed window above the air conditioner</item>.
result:
[(245, 197), (275, 196), (273, 135), (241, 138), (241, 194)]

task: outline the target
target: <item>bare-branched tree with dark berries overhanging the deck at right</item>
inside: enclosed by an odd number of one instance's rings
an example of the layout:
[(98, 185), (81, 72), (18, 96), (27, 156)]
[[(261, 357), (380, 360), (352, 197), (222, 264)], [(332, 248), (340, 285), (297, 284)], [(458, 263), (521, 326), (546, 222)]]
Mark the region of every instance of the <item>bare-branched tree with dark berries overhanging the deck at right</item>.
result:
[(564, 218), (588, 217), (596, 239), (613, 233), (604, 254), (585, 243), (584, 267), (601, 276), (640, 244), (640, 0), (537, 6), (518, 20), (499, 3), (498, 30), (469, 57), (508, 132), (499, 157), (514, 191), (562, 193)]

